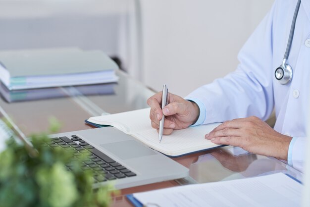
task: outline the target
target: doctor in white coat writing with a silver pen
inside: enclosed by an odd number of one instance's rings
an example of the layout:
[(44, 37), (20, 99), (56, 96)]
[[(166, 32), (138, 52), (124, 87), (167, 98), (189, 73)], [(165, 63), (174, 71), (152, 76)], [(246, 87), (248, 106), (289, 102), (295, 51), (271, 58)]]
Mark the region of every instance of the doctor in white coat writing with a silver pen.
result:
[[(150, 97), (152, 126), (158, 129), (162, 114), (165, 135), (223, 122), (205, 138), (287, 160), (302, 171), (310, 108), (310, 0), (275, 0), (238, 59), (236, 71), (185, 99), (169, 93), (163, 109), (161, 92)], [(272, 129), (264, 120), (273, 109)]]

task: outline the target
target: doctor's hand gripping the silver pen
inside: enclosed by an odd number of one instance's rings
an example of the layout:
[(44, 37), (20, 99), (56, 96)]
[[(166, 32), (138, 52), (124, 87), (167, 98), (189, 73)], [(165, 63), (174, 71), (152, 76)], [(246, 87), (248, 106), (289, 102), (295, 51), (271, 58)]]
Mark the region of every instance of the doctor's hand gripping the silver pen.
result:
[(187, 128), (197, 121), (200, 110), (196, 103), (168, 93), (167, 102), (169, 104), (161, 110), (161, 97), (162, 92), (158, 92), (147, 101), (148, 105), (151, 106), (151, 125), (157, 131), (162, 114), (165, 115), (164, 135), (171, 134), (173, 130)]

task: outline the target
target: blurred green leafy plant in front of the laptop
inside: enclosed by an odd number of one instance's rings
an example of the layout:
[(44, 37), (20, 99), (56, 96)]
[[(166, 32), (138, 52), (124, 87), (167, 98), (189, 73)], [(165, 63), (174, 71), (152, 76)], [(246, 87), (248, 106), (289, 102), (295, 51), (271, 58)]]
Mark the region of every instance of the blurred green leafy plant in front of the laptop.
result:
[[(55, 132), (59, 124), (51, 126)], [(0, 153), (0, 207), (109, 205), (112, 187), (94, 190), (92, 171), (83, 171), (82, 161), (72, 160), (71, 150), (49, 147), (46, 134), (32, 135), (31, 141), (33, 147), (11, 137)]]

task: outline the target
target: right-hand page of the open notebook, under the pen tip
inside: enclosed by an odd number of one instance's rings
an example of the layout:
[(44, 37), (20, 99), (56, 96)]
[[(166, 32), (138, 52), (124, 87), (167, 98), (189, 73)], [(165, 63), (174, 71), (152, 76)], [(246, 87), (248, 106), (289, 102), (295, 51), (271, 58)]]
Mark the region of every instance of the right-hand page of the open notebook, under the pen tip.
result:
[(130, 134), (154, 150), (165, 155), (177, 156), (219, 146), (205, 139), (205, 135), (219, 124), (213, 123), (175, 130), (171, 135), (163, 135), (160, 143), (158, 133), (152, 129), (151, 125), (149, 125), (149, 130)]

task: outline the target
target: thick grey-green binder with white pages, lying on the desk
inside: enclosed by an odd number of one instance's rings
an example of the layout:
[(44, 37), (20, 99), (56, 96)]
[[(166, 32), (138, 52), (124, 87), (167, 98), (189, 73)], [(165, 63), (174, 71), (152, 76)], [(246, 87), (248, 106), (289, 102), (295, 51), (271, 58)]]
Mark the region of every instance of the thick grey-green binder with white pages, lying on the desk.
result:
[(0, 51), (0, 81), (9, 91), (117, 82), (117, 69), (101, 51)]

